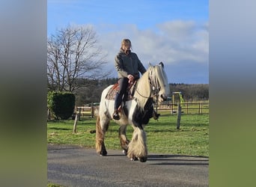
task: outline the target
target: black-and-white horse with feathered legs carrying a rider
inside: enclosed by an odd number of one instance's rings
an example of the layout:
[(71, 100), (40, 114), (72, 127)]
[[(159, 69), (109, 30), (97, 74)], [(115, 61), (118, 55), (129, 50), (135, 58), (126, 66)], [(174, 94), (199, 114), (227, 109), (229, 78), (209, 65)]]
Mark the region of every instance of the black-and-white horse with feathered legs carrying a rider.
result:
[[(109, 128), (114, 112), (114, 99), (106, 99), (106, 95), (113, 85), (109, 85), (102, 92), (99, 114), (96, 122), (96, 151), (100, 156), (106, 156), (104, 144), (105, 134)], [(144, 126), (153, 117), (153, 102), (163, 102), (170, 93), (164, 64), (149, 65), (147, 71), (138, 79), (132, 99), (122, 103), (119, 123), (119, 138), (123, 153), (130, 160), (147, 161), (147, 137)], [(132, 140), (127, 139), (127, 125), (132, 125)]]

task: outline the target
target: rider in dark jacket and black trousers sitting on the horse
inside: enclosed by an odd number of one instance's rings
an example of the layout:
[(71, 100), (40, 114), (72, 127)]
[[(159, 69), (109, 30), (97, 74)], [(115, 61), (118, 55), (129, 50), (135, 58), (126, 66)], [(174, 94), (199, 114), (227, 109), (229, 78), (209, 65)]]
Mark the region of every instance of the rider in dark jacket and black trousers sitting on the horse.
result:
[[(119, 120), (118, 108), (121, 105), (124, 94), (127, 92), (129, 83), (139, 79), (139, 72), (143, 75), (146, 72), (141, 61), (135, 52), (131, 52), (132, 43), (129, 39), (124, 39), (121, 42), (121, 49), (118, 55), (115, 56), (115, 67), (118, 70), (119, 90), (115, 96), (113, 118)], [(153, 112), (153, 116), (158, 114)], [(155, 118), (155, 117), (154, 117)]]

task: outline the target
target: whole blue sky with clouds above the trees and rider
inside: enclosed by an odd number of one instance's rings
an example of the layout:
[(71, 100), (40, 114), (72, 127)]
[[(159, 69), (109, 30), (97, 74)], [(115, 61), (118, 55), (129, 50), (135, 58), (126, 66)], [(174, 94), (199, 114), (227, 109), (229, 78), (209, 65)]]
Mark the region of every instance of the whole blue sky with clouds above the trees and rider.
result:
[(96, 31), (109, 77), (118, 77), (115, 55), (129, 38), (146, 69), (149, 63), (165, 64), (169, 83), (209, 83), (207, 0), (48, 0), (48, 37), (67, 25)]

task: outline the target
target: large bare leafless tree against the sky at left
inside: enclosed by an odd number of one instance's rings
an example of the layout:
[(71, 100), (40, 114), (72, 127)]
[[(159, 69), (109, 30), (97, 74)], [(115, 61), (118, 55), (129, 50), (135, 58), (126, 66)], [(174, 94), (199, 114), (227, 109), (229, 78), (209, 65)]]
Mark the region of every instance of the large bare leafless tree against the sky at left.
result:
[(47, 78), (51, 89), (75, 91), (79, 79), (102, 79), (105, 55), (97, 46), (96, 32), (91, 27), (61, 28), (47, 40)]

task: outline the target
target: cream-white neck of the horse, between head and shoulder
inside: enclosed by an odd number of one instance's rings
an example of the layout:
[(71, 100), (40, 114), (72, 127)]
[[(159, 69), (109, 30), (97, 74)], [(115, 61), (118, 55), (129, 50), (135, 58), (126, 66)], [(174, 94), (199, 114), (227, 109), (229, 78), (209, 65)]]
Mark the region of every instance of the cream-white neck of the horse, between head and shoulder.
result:
[(148, 72), (145, 72), (140, 79), (138, 79), (135, 87), (134, 97), (137, 99), (138, 105), (144, 108), (147, 99), (150, 97), (150, 83), (148, 79)]

